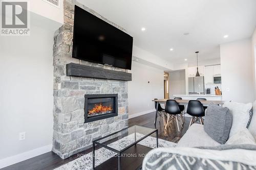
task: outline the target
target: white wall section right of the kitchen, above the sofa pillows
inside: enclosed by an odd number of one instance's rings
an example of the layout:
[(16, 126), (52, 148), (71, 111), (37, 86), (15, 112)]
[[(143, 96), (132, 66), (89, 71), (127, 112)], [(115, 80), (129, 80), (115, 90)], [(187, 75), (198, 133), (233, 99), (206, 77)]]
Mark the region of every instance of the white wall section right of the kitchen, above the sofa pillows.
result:
[(251, 39), (220, 45), (222, 96), (224, 101), (253, 102)]

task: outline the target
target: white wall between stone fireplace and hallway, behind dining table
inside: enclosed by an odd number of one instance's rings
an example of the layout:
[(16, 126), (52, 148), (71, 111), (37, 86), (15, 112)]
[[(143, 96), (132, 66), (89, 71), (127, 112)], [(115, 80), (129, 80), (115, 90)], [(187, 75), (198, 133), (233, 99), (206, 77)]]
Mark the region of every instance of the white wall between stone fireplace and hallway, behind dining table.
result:
[(164, 98), (163, 70), (133, 61), (131, 72), (132, 81), (128, 82), (130, 118), (153, 112), (152, 100)]

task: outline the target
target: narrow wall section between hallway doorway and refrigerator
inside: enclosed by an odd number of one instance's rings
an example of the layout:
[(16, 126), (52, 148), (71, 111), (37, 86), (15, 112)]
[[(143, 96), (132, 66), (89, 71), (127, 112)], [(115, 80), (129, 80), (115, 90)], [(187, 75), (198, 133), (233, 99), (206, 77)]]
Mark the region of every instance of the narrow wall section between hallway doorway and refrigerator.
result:
[(169, 98), (173, 99), (174, 94), (186, 94), (185, 69), (169, 72)]

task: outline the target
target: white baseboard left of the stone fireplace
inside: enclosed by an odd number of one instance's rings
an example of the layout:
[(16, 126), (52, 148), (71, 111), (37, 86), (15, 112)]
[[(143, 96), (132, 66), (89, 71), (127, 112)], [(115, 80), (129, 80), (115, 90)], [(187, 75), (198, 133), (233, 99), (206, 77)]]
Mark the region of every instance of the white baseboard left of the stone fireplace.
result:
[(52, 151), (52, 144), (0, 160), (0, 169)]

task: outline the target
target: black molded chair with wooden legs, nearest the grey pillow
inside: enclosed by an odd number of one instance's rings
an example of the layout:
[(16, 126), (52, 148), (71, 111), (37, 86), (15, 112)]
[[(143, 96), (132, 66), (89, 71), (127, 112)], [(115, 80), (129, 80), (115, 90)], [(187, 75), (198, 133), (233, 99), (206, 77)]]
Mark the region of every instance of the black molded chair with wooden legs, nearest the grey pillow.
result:
[(204, 114), (204, 107), (200, 101), (194, 101), (194, 100), (189, 101), (187, 105), (187, 114), (192, 116), (189, 123), (189, 127), (197, 121), (200, 121), (200, 124), (203, 125), (202, 117), (205, 114)]

